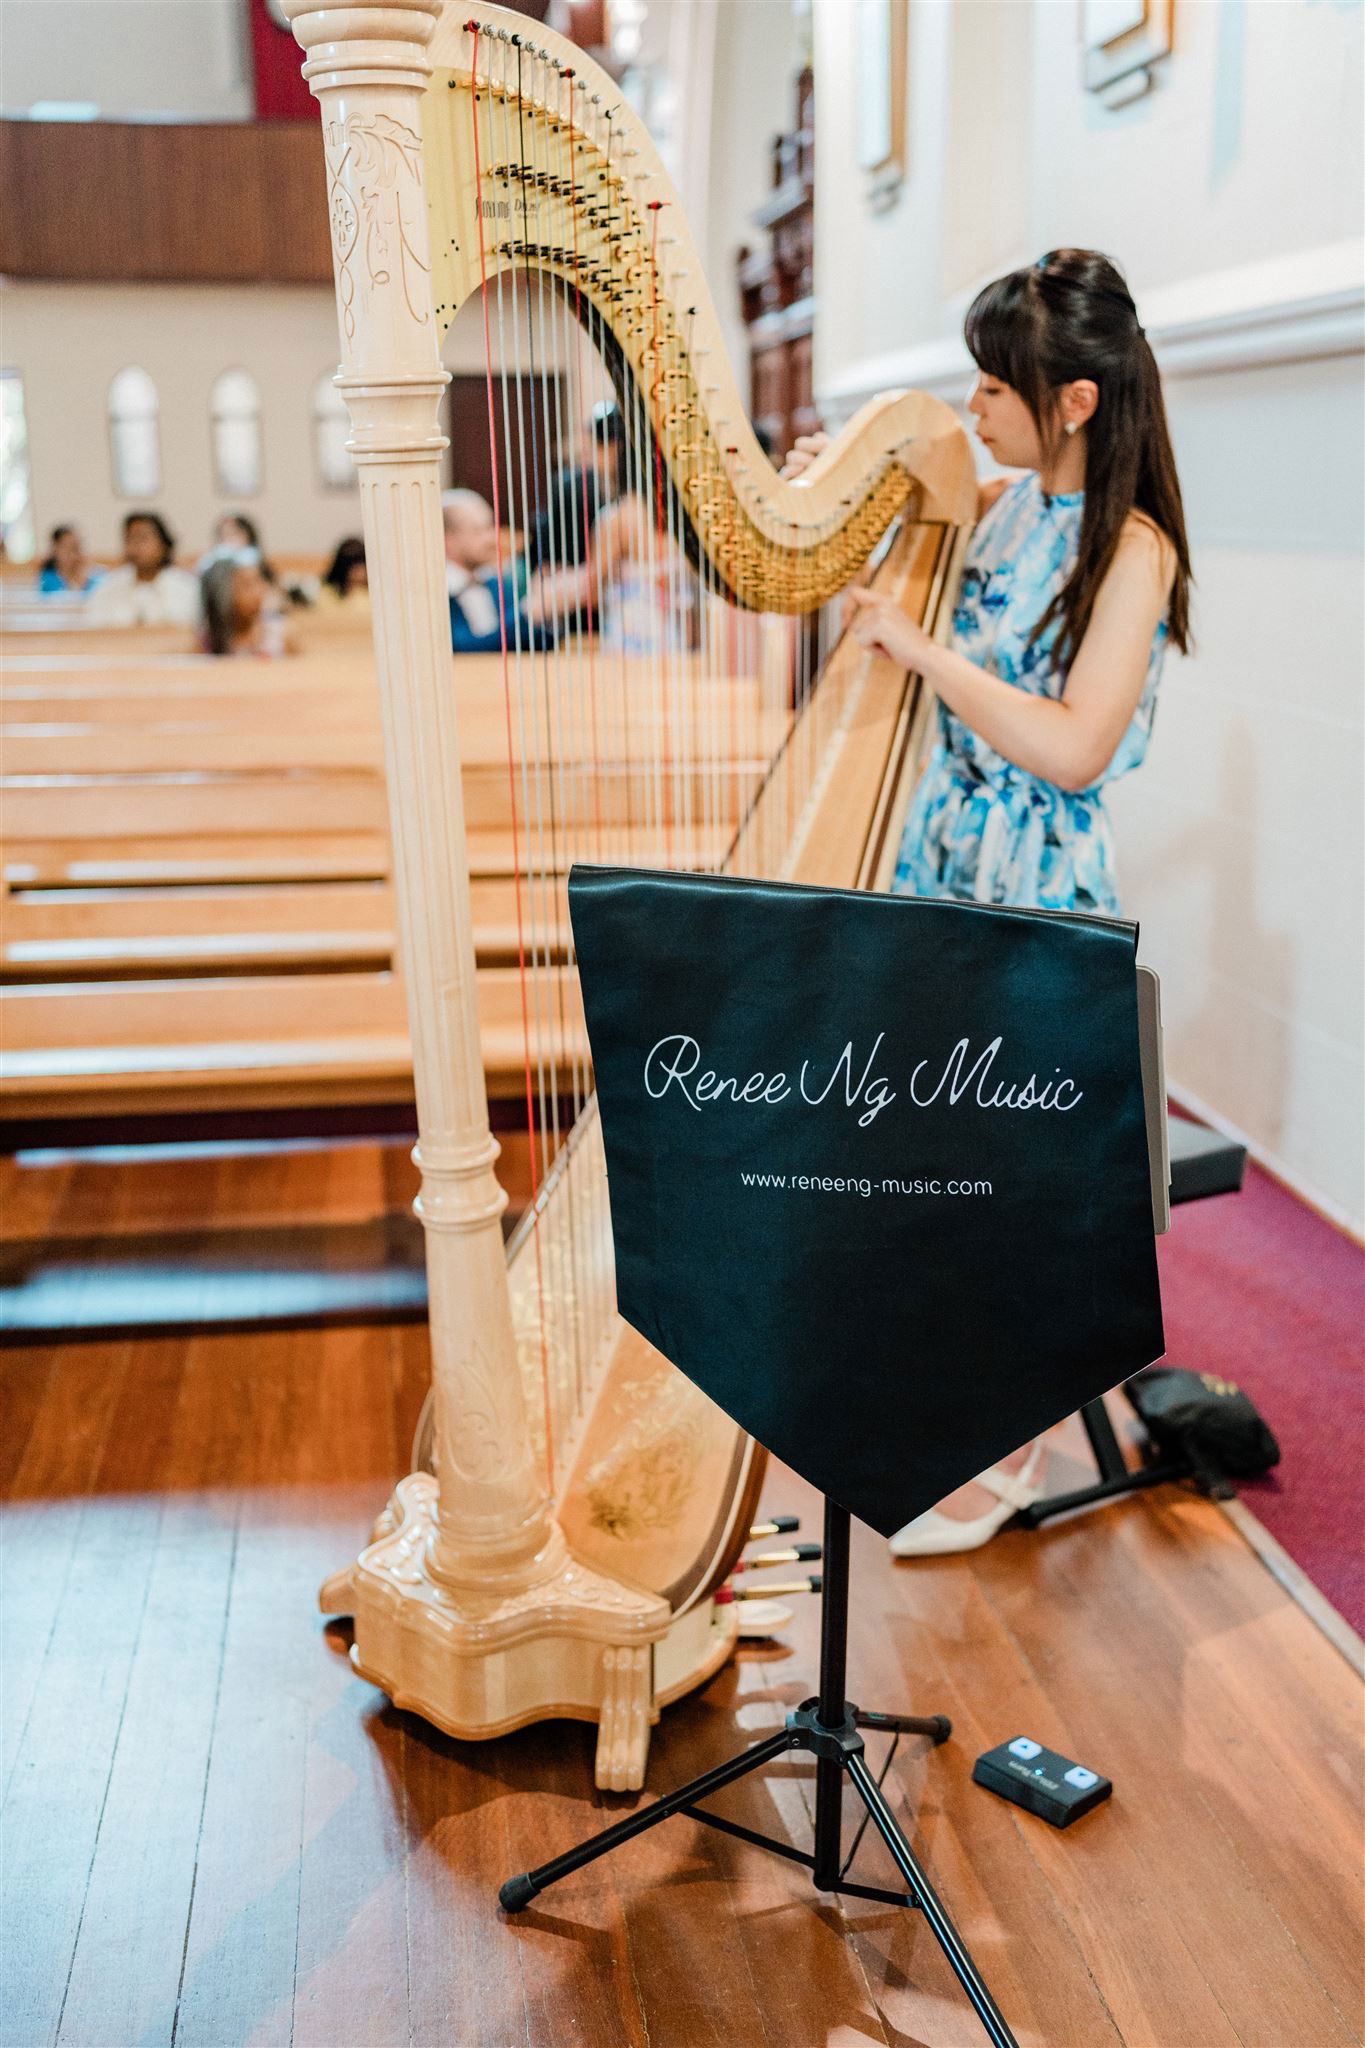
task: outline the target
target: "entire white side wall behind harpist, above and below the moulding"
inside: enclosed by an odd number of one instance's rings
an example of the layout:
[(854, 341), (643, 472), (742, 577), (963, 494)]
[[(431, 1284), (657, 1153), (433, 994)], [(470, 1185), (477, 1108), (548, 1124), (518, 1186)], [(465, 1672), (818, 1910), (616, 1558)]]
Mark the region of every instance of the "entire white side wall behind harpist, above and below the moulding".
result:
[(817, 0), (817, 387), (958, 397), (966, 299), (1072, 242), (1134, 285), (1166, 377), (1197, 649), (1113, 795), (1177, 1094), (1365, 1225), (1361, 31), (1342, 0), (1181, 0), (1156, 90), (1078, 84), (1076, 10), (915, 0), (909, 182), (853, 162), (845, 0)]

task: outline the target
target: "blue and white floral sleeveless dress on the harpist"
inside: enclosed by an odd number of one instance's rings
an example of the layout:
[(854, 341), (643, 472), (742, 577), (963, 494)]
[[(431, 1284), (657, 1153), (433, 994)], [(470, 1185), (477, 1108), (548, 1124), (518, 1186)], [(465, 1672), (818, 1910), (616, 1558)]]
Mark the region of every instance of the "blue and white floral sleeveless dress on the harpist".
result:
[[(1036, 473), (1021, 477), (982, 518), (962, 571), (952, 645), (1033, 696), (1066, 688), (1056, 666), (1060, 621), (1033, 645), (1029, 633), (1070, 575), (1083, 504), (1085, 492), (1048, 498)], [(1115, 915), (1103, 786), (1146, 754), (1164, 651), (1162, 621), (1132, 723), (1101, 778), (1078, 793), (1015, 768), (939, 705), (939, 743), (911, 799), (892, 891)]]

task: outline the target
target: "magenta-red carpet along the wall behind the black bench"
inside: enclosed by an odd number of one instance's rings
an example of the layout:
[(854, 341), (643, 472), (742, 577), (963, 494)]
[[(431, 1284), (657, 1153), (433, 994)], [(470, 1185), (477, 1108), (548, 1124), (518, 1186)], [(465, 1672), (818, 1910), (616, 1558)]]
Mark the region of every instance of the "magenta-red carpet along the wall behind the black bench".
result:
[(1365, 1634), (1365, 1253), (1254, 1165), (1158, 1243), (1166, 1364), (1252, 1397), (1281, 1462), (1238, 1493)]

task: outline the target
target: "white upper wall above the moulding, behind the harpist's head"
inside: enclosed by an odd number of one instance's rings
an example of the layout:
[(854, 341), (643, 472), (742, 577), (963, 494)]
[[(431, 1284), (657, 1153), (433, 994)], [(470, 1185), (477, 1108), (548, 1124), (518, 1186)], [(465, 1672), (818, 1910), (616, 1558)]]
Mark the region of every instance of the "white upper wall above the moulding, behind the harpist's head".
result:
[(1076, 8), (915, 0), (909, 180), (868, 213), (849, 0), (814, 0), (817, 383), (956, 336), (988, 276), (1072, 242), (1140, 293), (1361, 233), (1359, 0), (1181, 0), (1177, 51), (1117, 113), (1078, 82)]

